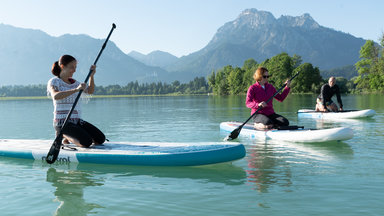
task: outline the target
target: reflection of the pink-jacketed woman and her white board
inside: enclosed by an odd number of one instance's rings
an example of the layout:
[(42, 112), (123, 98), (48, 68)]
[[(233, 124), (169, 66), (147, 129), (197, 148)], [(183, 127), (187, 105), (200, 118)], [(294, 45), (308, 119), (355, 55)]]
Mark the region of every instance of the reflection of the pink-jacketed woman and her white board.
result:
[[(292, 169), (307, 171), (317, 167), (329, 169), (329, 165), (338, 160), (351, 160), (352, 148), (344, 142), (325, 143), (289, 143), (256, 142), (247, 148), (248, 182), (253, 189), (268, 193), (270, 188), (278, 185), (290, 191)], [(332, 167), (332, 166), (330, 166)]]

